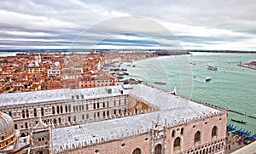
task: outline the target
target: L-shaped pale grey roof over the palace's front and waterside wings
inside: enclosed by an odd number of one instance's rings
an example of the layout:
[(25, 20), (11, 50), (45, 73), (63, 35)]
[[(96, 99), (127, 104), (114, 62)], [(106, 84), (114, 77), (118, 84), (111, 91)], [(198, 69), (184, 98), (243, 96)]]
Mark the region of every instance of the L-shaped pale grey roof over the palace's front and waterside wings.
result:
[(143, 134), (148, 132), (156, 123), (158, 115), (162, 125), (166, 122), (167, 126), (172, 127), (178, 123), (189, 122), (195, 118), (207, 117), (221, 112), (142, 84), (132, 87), (129, 94), (149, 104), (159, 106), (160, 111), (52, 129), (53, 149), (60, 150), (61, 147), (66, 148), (66, 146), (70, 148), (101, 141), (119, 140), (134, 134)]

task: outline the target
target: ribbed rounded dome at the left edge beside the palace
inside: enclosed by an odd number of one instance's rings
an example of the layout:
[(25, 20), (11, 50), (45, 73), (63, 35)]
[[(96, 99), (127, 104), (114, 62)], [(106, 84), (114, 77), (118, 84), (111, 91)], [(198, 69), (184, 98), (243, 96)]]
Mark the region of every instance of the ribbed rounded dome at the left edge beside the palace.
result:
[(0, 142), (15, 134), (15, 125), (12, 117), (0, 111)]

